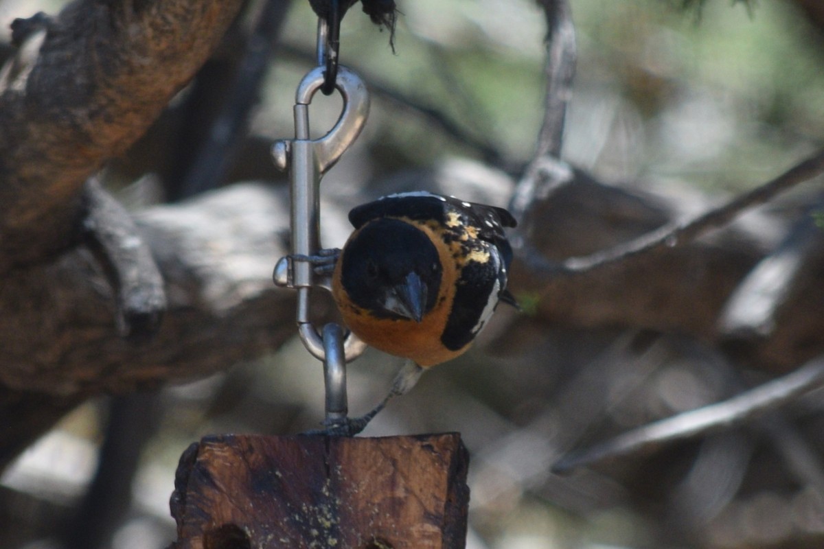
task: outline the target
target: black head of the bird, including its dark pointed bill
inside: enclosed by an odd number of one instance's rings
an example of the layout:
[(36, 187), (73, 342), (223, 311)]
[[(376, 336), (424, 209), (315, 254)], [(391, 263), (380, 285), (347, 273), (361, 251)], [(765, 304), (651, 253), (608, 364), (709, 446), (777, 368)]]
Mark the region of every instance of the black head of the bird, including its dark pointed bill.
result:
[(438, 249), (409, 223), (370, 221), (349, 240), (340, 259), (349, 299), (376, 316), (420, 322), (438, 300)]

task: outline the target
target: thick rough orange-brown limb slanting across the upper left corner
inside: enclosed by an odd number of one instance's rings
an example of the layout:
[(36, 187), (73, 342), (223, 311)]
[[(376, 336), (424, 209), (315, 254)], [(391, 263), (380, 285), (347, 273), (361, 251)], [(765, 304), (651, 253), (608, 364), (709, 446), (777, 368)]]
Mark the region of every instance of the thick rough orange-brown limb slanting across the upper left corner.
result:
[(77, 0), (0, 78), (0, 271), (77, 239), (82, 184), (204, 63), (241, 0)]

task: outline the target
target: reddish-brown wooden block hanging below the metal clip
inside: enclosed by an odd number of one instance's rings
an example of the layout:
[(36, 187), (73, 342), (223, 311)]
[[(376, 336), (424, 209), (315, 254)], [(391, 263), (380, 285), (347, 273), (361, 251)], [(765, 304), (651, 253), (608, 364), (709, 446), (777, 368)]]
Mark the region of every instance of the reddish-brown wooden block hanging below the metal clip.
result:
[(180, 457), (170, 549), (458, 549), (461, 437), (207, 437)]

